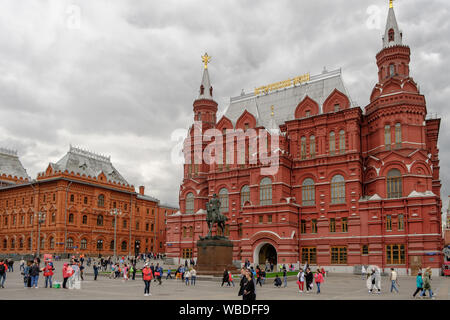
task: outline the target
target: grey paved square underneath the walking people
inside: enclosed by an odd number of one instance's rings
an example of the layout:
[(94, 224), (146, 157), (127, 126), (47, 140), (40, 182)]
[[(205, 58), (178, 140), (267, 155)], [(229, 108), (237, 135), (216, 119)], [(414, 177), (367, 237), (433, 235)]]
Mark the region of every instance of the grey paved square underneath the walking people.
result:
[[(39, 288), (24, 288), (23, 278), (19, 271), (19, 266), (15, 265), (14, 272), (7, 272), (5, 288), (0, 289), (0, 300), (22, 300), (22, 299), (42, 299), (42, 300), (241, 300), (237, 293), (239, 282), (236, 280), (236, 287), (221, 287), (221, 279), (210, 281), (197, 281), (195, 286), (186, 286), (180, 280), (164, 280), (162, 285), (152, 282), (149, 297), (144, 297), (144, 283), (141, 278), (128, 280), (109, 279), (108, 277), (98, 277), (93, 280), (92, 275), (85, 275), (80, 290), (68, 289), (46, 289), (45, 279), (39, 277)], [(62, 263), (56, 263), (56, 281), (62, 281)], [(88, 273), (92, 273), (92, 268), (88, 268)], [(288, 281), (286, 288), (275, 288), (273, 279), (268, 279), (262, 287), (256, 289), (257, 300), (411, 300), (415, 291), (415, 277), (399, 277), (400, 293), (390, 293), (390, 284), (387, 277), (382, 279), (381, 294), (369, 294), (365, 280), (361, 276), (350, 274), (331, 274), (325, 278), (325, 283), (321, 287), (321, 294), (299, 293), (295, 277)], [(450, 300), (450, 278), (433, 277), (433, 292), (436, 300)]]

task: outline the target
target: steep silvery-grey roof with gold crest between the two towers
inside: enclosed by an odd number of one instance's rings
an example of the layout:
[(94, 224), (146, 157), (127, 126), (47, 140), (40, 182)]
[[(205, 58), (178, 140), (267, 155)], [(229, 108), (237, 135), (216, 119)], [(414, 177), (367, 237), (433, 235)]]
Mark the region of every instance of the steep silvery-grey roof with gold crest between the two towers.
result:
[[(341, 70), (324, 70), (322, 74), (312, 76), (308, 82), (295, 87), (258, 96), (251, 93), (231, 98), (225, 116), (236, 125), (244, 110), (247, 110), (256, 118), (257, 126), (272, 129), (274, 125), (280, 126), (286, 121), (294, 120), (295, 109), (306, 96), (319, 104), (322, 113), (323, 103), (335, 89), (344, 93), (349, 98), (351, 107), (354, 107), (342, 80)], [(273, 116), (271, 106), (274, 106)]]

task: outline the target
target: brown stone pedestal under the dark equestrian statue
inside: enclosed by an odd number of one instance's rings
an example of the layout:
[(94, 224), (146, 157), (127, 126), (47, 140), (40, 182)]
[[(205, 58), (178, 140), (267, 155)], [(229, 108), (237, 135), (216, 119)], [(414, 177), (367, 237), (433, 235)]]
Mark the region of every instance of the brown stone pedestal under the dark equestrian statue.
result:
[(199, 275), (222, 276), (225, 269), (238, 273), (233, 265), (233, 242), (223, 237), (198, 240), (196, 267)]

